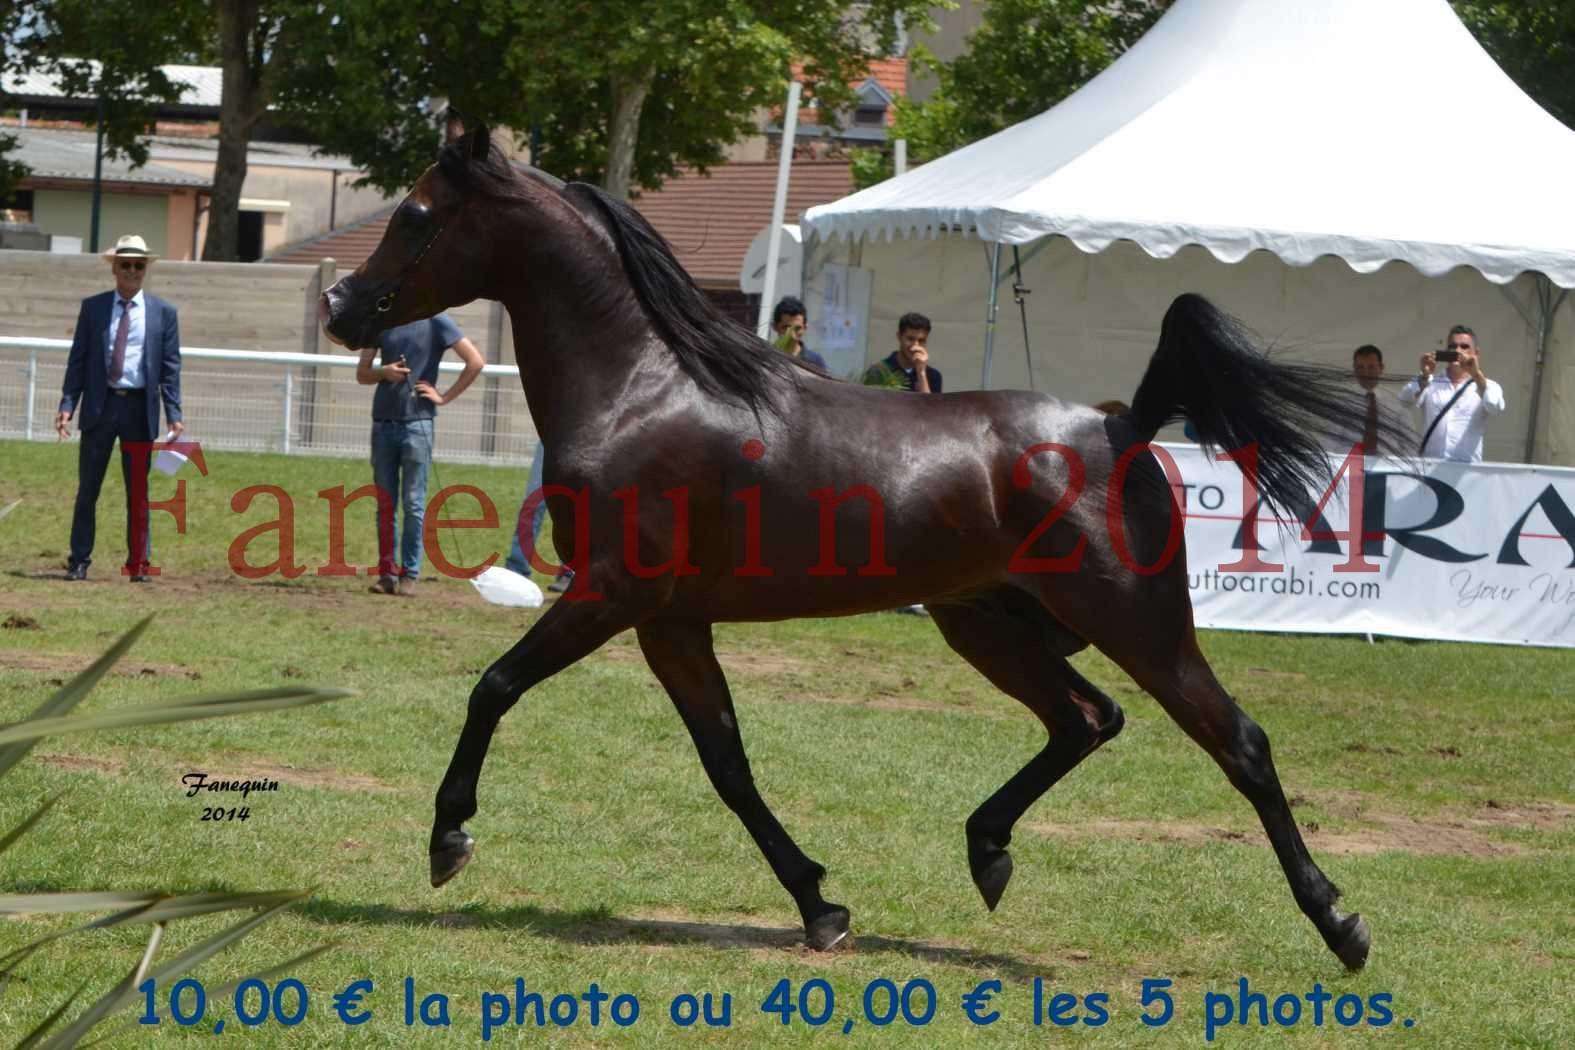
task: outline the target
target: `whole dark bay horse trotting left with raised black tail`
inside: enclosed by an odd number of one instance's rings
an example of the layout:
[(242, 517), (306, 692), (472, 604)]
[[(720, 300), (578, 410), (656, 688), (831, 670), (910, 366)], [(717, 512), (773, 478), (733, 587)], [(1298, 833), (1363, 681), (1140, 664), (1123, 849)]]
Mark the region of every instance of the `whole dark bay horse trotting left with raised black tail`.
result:
[(1329, 373), (1271, 362), (1188, 294), (1123, 416), (1043, 394), (838, 383), (724, 320), (633, 208), (513, 167), (485, 129), (444, 148), (376, 252), (323, 294), (321, 315), (335, 340), (370, 346), (384, 327), (479, 298), (513, 323), (547, 444), (553, 540), (580, 571), (471, 691), (436, 797), (435, 886), (471, 858), (461, 823), (498, 719), (633, 630), (808, 943), (836, 945), (847, 908), (821, 896), (825, 869), (754, 787), (712, 623), (923, 601), (947, 644), (1049, 737), (967, 820), (988, 907), (1011, 877), (1017, 819), (1121, 730), (1121, 708), (1068, 663), (1095, 645), (1246, 795), (1303, 913), (1347, 967), (1364, 965), (1367, 926), (1336, 910), (1268, 737), (1199, 652), (1181, 516), (1147, 446), (1181, 416), (1211, 446), (1255, 446), (1260, 493), (1292, 508), (1326, 480), (1320, 439), (1359, 419)]

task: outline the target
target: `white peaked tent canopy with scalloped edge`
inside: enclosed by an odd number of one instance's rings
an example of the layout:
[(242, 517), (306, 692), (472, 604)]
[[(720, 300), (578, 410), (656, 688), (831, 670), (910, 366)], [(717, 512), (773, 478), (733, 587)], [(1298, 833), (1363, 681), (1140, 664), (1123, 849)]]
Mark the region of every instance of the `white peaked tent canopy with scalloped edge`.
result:
[(1178, 0), (1060, 105), (836, 203), (822, 239), (1199, 244), (1575, 287), (1575, 131), (1447, 0)]

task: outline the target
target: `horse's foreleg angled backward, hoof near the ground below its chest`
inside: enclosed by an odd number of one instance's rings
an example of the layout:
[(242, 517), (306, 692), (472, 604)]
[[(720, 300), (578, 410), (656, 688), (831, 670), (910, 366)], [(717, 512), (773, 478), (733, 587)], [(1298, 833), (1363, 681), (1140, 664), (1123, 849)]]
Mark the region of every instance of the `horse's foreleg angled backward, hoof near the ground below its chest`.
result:
[(652, 620), (636, 633), (646, 663), (679, 708), (712, 786), (799, 905), (810, 946), (833, 948), (847, 937), (847, 908), (821, 897), (825, 869), (803, 855), (754, 787), (728, 680), (712, 649), (710, 625)]

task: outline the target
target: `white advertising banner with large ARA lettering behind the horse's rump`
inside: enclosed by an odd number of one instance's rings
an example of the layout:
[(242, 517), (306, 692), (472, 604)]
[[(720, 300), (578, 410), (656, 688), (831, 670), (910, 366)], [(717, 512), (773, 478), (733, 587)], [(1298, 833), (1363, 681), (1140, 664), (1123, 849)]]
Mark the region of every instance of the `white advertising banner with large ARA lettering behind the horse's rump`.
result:
[(1236, 463), (1162, 449), (1199, 627), (1575, 647), (1575, 469), (1370, 458), (1254, 543)]

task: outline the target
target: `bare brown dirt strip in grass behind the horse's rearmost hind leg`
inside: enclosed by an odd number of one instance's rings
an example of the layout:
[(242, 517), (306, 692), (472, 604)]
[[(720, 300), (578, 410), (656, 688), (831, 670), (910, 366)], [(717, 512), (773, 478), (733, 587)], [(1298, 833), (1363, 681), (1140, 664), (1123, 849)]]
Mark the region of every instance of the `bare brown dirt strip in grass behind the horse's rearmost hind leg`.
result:
[[(1303, 825), (1307, 845), (1326, 853), (1418, 853), (1425, 856), (1517, 856), (1531, 847), (1496, 837), (1496, 831), (1567, 831), (1575, 828), (1575, 806), (1551, 801), (1490, 803), (1469, 812), (1406, 817), (1362, 809), (1353, 817), (1361, 826), (1331, 831), (1317, 823)], [(1202, 823), (1162, 820), (1093, 820), (1027, 823), (1030, 831), (1049, 836), (1112, 836), (1137, 842), (1243, 842), (1268, 847), (1257, 826), (1221, 828)]]

